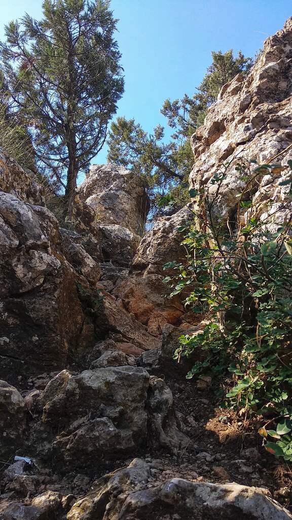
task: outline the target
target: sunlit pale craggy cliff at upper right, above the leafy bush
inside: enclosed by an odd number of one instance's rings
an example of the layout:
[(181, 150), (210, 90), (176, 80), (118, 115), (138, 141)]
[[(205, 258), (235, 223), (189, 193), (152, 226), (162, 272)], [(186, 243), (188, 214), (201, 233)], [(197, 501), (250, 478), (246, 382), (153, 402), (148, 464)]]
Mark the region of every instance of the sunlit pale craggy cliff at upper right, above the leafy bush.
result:
[[(210, 179), (224, 171), (222, 164), (229, 164), (212, 210), (218, 220), (232, 219), (238, 203), (236, 195), (246, 185), (242, 174), (235, 170), (240, 159), (257, 160), (259, 164), (270, 161), (281, 165), (282, 161), (286, 165), (292, 158), (291, 148), (277, 157), (292, 144), (291, 58), (289, 18), (281, 31), (264, 42), (262, 54), (246, 79), (237, 75), (222, 87), (204, 126), (192, 137), (195, 164), (191, 187), (207, 186), (212, 198), (217, 185), (211, 185)], [(262, 219), (267, 219), (265, 201), (271, 200), (271, 222), (276, 223), (277, 215), (281, 213), (283, 222), (285, 213), (290, 213), (289, 187), (280, 186), (280, 182), (289, 178), (291, 171), (284, 167), (273, 172), (257, 176), (253, 206)]]

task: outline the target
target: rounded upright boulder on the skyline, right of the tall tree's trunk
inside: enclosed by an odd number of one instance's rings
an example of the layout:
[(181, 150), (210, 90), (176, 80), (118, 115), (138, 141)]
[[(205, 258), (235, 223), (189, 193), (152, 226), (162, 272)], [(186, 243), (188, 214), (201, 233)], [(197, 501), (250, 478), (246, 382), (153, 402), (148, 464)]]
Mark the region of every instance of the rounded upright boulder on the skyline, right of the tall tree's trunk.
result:
[(127, 266), (136, 253), (149, 211), (141, 179), (123, 166), (95, 164), (78, 193), (95, 213), (105, 260)]

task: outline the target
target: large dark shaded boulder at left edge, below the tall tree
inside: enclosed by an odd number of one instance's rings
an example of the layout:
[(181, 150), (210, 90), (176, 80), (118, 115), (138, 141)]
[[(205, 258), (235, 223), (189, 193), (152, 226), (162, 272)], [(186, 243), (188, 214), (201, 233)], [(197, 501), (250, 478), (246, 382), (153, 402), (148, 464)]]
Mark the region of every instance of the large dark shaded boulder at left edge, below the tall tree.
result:
[(16, 383), (28, 367), (30, 375), (61, 369), (83, 341), (86, 317), (49, 210), (0, 192), (0, 265), (2, 377)]

